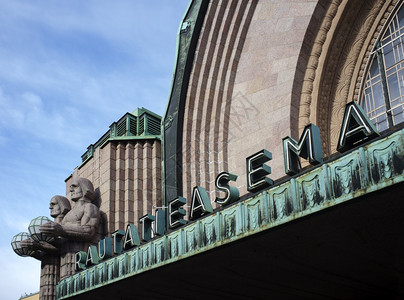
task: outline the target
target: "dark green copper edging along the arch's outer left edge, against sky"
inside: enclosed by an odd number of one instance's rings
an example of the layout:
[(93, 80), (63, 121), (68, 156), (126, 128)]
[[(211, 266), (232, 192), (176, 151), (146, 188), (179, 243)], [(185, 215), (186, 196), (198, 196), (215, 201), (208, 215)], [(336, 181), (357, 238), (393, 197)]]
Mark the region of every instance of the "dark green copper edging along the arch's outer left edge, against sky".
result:
[(163, 201), (182, 195), (182, 131), (189, 77), (209, 0), (192, 0), (177, 35), (177, 57), (162, 123)]

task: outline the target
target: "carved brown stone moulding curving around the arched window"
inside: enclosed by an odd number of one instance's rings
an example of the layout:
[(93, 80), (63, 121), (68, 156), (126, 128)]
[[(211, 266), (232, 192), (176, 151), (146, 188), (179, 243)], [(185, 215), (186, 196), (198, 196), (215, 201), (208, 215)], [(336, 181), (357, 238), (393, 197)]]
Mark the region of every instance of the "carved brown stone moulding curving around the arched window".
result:
[[(358, 100), (371, 49), (397, 2), (333, 0), (317, 4), (303, 43), (311, 45), (310, 55), (302, 47), (299, 57), (298, 66), (306, 65), (301, 92), (294, 94), (292, 102), (299, 103), (295, 130), (300, 133), (308, 123), (319, 126), (325, 155), (336, 152), (345, 105)], [(296, 77), (297, 88), (298, 81)]]

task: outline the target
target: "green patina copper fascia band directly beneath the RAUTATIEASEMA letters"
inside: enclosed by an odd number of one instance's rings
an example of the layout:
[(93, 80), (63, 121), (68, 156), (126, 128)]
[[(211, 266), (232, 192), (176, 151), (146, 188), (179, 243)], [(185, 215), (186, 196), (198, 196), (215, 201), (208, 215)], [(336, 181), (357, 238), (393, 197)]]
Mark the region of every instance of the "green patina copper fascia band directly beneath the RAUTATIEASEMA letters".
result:
[(404, 129), (68, 277), (57, 285), (57, 299), (271, 230), (400, 182), (404, 182)]

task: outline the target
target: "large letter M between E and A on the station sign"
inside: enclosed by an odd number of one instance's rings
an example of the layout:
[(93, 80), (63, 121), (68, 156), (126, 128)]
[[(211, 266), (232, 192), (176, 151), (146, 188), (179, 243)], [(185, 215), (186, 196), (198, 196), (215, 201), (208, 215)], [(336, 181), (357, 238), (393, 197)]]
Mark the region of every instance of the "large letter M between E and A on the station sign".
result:
[(320, 129), (314, 124), (309, 124), (304, 128), (299, 143), (288, 136), (283, 138), (282, 142), (285, 173), (288, 175), (299, 173), (301, 168), (299, 157), (308, 159), (312, 165), (323, 162)]

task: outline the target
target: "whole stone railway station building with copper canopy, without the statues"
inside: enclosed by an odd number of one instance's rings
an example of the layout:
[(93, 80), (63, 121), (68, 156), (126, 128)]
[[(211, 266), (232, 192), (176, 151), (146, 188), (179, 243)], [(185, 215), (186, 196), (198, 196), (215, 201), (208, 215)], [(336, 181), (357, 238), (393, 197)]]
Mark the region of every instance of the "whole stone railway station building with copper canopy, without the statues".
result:
[(55, 225), (42, 299), (403, 297), (402, 4), (190, 1), (165, 115), (66, 179), (97, 222)]

